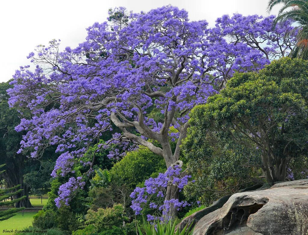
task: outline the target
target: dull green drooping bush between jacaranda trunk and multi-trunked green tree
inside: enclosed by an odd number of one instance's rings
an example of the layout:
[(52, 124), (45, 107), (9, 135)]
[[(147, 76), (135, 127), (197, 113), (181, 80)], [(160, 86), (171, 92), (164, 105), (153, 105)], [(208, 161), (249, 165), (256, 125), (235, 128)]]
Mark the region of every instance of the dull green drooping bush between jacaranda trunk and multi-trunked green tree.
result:
[(220, 135), (205, 137), (199, 136), (197, 132), (198, 126), (196, 129), (191, 128), (183, 142), (188, 171), (195, 180), (184, 188), (186, 200), (210, 205), (239, 189), (265, 183), (258, 178), (260, 170), (254, 167), (261, 164), (256, 149), (233, 143), (223, 133), (221, 136), (224, 139), (220, 139)]

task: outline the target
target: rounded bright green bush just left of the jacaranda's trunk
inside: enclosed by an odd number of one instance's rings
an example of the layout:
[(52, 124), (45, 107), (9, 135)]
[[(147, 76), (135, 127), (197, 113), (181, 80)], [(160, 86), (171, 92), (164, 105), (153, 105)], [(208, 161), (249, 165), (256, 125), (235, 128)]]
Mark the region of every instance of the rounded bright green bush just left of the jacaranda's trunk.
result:
[(141, 147), (117, 162), (110, 170), (111, 179), (118, 185), (125, 184), (131, 190), (136, 185), (148, 179), (153, 172), (166, 169), (166, 164), (161, 156), (151, 152), (148, 148)]

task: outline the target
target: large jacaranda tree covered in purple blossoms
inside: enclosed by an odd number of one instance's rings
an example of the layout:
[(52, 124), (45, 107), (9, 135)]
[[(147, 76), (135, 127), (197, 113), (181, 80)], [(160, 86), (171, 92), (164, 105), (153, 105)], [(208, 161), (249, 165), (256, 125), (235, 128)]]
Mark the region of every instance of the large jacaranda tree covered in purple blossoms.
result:
[[(37, 64), (35, 71), (21, 67), (11, 83), (14, 88), (8, 90), (10, 106), (28, 107), (33, 114), (16, 127), (27, 131), (19, 152), (29, 150), (37, 158), (47, 146), (57, 145), (62, 154), (55, 169), (64, 176), (115, 126), (113, 137), (100, 148), (143, 145), (163, 156), (167, 168), (179, 163), (190, 110), (205, 103), (217, 92), (214, 87), (234, 71), (258, 70), (270, 62), (266, 54), (272, 52), (283, 56), (280, 48), (288, 50), (289, 44), (279, 43), (293, 40), (291, 22), (280, 33), (271, 30), (274, 17), (242, 18), (254, 23), (236, 21), (227, 29), (218, 19), (217, 27), (209, 29), (205, 20), (189, 21), (187, 11), (174, 6), (148, 13), (117, 8), (109, 11), (109, 22), (89, 27), (86, 41), (75, 49), (60, 52), (56, 40), (38, 46), (29, 55)], [(241, 37), (228, 40), (233, 32)], [(251, 40), (262, 41), (259, 47), (245, 39), (252, 35)], [(148, 115), (154, 109), (162, 114), (161, 120)], [(170, 140), (176, 141), (173, 150)], [(120, 152), (114, 149), (109, 156)], [(80, 181), (70, 178), (61, 187), (63, 201), (83, 185)], [(169, 183), (166, 199), (176, 195), (178, 187)]]

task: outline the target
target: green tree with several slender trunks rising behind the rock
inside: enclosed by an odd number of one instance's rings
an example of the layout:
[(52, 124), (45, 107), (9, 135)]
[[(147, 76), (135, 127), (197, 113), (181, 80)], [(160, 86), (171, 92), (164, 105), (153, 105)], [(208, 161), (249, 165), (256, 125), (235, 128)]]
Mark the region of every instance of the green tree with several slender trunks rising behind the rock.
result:
[(284, 181), (290, 160), (307, 154), (307, 90), (308, 61), (301, 59), (237, 73), (220, 94), (193, 109), (186, 143), (193, 149), (203, 138), (243, 155), (250, 150), (267, 182)]

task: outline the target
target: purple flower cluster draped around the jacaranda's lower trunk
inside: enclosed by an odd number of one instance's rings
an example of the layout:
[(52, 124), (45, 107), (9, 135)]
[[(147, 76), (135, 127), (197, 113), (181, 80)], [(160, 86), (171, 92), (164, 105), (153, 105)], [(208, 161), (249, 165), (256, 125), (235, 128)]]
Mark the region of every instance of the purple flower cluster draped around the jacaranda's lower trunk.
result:
[[(191, 175), (181, 176), (181, 170), (182, 169), (178, 165), (169, 167), (164, 174), (160, 173), (156, 178), (147, 179), (144, 183), (145, 187), (136, 187), (130, 195), (133, 199), (131, 208), (134, 210), (135, 214), (140, 214), (142, 206), (149, 203), (150, 208), (162, 212), (163, 216), (160, 219), (163, 220), (168, 215), (171, 207), (180, 210), (181, 207), (190, 205), (186, 201), (179, 201), (179, 199), (175, 198), (161, 200), (163, 201), (161, 205), (158, 205), (156, 202), (150, 202), (152, 196), (155, 196), (156, 198), (164, 198), (164, 192), (169, 184), (178, 187), (179, 190), (183, 189), (184, 186), (188, 184), (188, 179), (191, 178)], [(153, 216), (148, 215), (148, 220), (153, 220), (153, 218)]]

